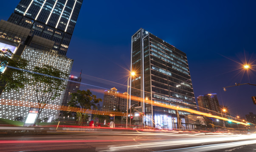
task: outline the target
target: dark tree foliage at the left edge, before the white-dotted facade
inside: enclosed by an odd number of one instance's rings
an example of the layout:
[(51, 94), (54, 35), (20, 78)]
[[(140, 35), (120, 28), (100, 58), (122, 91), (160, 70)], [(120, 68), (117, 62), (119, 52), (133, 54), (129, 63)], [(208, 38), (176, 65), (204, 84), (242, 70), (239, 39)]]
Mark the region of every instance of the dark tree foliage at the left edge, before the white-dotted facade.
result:
[[(13, 54), (9, 49), (2, 49), (0, 50), (0, 64), (0, 90), (10, 91), (14, 89), (19, 91), (19, 88), (24, 88), (28, 78), (24, 71), (18, 69), (25, 69), (28, 61)], [(8, 66), (14, 68), (6, 68)]]

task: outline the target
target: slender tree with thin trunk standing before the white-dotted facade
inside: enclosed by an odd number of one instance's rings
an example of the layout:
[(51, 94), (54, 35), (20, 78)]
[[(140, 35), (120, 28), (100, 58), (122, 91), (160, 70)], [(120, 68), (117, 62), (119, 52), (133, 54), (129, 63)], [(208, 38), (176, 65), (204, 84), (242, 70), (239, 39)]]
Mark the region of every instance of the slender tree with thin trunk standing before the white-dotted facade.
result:
[[(42, 110), (49, 101), (59, 97), (61, 92), (65, 90), (65, 78), (68, 77), (68, 73), (62, 72), (51, 65), (35, 66), (33, 71), (36, 73), (29, 73), (31, 79), (28, 84), (36, 93), (39, 106), (37, 119), (39, 119)], [(36, 125), (36, 122), (34, 125)]]

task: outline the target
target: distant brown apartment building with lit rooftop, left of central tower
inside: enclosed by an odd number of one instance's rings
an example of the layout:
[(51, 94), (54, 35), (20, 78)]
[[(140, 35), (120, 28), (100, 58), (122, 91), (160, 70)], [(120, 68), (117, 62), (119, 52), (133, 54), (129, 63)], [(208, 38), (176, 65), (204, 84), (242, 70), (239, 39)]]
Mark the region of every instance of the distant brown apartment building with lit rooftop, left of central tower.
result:
[[(105, 90), (103, 98), (102, 110), (104, 111), (126, 111), (127, 110), (127, 98), (121, 98), (120, 92), (115, 87), (110, 90)], [(123, 94), (127, 94), (124, 92)]]

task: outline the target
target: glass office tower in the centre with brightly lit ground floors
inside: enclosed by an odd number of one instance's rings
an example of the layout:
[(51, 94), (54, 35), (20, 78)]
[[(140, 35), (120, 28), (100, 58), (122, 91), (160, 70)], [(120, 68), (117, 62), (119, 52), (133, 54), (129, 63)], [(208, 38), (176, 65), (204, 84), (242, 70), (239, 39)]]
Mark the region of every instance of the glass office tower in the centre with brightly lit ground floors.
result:
[(186, 54), (141, 28), (132, 35), (131, 59), (135, 76), (130, 81), (130, 94), (140, 97), (141, 102), (132, 100), (129, 108), (133, 106), (145, 114), (142, 119), (134, 118), (138, 121), (135, 125), (173, 129), (181, 122), (180, 127), (192, 129), (185, 120), (191, 113), (178, 111), (178, 121), (176, 110), (145, 103), (148, 98), (156, 103), (196, 110)]

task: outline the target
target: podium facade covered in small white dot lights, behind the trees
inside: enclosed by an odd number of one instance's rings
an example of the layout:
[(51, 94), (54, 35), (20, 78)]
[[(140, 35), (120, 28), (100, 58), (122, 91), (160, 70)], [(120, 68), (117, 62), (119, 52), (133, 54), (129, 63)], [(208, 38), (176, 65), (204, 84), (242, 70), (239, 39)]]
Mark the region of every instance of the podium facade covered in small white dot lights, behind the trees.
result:
[[(32, 71), (35, 66), (52, 65), (54, 68), (62, 70), (63, 72), (70, 73), (73, 60), (54, 54), (52, 52), (45, 52), (38, 49), (26, 47), (21, 57), (28, 60), (27, 69)], [(67, 82), (65, 82), (67, 84)], [(51, 109), (44, 109), (40, 114), (39, 119), (48, 118), (55, 120), (58, 118), (59, 110), (54, 108), (59, 107), (62, 103), (62, 98), (65, 90), (61, 92), (61, 96), (50, 100), (48, 103)], [(38, 105), (36, 99), (36, 93), (31, 90), (31, 86), (25, 85), (24, 89), (20, 89), (19, 92), (11, 90), (9, 92), (3, 92), (1, 94), (0, 104), (0, 118), (15, 120), (17, 117), (22, 117), (23, 121), (28, 115), (30, 107), (36, 107)], [(12, 103), (12, 105), (6, 105), (6, 103)], [(19, 106), (18, 103), (21, 103)]]

